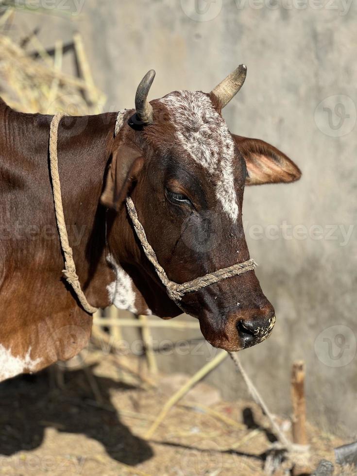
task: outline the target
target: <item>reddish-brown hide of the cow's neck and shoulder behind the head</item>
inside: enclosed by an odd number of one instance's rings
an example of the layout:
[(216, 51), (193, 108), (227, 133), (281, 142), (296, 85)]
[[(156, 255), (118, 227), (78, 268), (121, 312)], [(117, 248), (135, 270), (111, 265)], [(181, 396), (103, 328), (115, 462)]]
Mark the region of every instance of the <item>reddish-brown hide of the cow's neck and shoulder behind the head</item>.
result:
[[(65, 118), (58, 134), (69, 242), (93, 306), (109, 304), (105, 284), (113, 281), (105, 262), (105, 210), (99, 197), (115, 119), (115, 114)], [(61, 273), (48, 165), (50, 121), (50, 116), (20, 114), (0, 105), (0, 349), (10, 360), (40, 359), (24, 371), (76, 355), (92, 324)], [(17, 364), (11, 360), (9, 365), (14, 373)], [(0, 369), (1, 374), (11, 376), (11, 369)]]

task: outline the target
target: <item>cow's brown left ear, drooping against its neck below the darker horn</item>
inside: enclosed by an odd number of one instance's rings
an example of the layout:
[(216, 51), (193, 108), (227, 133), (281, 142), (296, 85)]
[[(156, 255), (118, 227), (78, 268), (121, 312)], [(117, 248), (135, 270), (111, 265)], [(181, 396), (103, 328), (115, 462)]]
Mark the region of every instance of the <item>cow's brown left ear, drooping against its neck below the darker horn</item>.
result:
[(143, 164), (144, 158), (140, 151), (125, 143), (119, 143), (109, 164), (101, 203), (118, 211)]

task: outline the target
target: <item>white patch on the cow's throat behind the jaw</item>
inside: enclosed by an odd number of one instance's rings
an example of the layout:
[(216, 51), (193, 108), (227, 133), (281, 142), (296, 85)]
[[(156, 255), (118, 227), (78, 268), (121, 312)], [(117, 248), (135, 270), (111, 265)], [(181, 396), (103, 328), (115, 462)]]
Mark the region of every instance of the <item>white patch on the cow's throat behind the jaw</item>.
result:
[(118, 309), (125, 309), (136, 314), (136, 296), (131, 277), (119, 266), (111, 254), (106, 257), (106, 260), (116, 274), (116, 280), (106, 287), (110, 302)]

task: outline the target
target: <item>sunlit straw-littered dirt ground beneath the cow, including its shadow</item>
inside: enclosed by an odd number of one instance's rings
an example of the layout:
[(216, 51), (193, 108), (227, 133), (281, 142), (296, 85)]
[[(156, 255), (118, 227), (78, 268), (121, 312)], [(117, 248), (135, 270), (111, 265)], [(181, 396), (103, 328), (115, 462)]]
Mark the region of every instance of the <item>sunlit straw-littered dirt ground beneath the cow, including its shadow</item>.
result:
[[(151, 386), (145, 361), (137, 357), (92, 351), (85, 362), (86, 371), (52, 368), (0, 385), (0, 474), (266, 474), (276, 439), (253, 402), (220, 401), (207, 408), (188, 395), (146, 441), (145, 432), (168, 398), (160, 377), (157, 387)], [(277, 422), (290, 437), (289, 421), (277, 417)], [(333, 448), (345, 443), (312, 426), (308, 438), (315, 468), (323, 458), (334, 462)], [(356, 473), (335, 465), (334, 474)]]

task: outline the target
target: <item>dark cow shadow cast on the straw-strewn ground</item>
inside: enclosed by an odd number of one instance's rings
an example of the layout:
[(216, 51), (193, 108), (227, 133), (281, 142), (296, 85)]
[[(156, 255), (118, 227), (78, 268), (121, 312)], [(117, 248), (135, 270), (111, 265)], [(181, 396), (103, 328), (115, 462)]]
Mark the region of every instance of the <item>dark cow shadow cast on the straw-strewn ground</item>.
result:
[(59, 432), (84, 434), (101, 442), (111, 458), (131, 466), (152, 458), (148, 443), (120, 422), (110, 401), (110, 389), (136, 387), (96, 376), (103, 398), (103, 404), (96, 407), (83, 371), (67, 372), (65, 378), (66, 388), (61, 391), (50, 390), (48, 372), (0, 384), (0, 455), (37, 448), (45, 428), (52, 426)]

